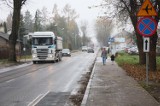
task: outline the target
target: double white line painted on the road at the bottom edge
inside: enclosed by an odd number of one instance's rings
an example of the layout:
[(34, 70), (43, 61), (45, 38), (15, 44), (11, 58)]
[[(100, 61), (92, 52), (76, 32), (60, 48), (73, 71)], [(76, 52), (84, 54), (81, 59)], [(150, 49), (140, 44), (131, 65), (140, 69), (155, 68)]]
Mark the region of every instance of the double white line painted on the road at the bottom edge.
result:
[(32, 102), (30, 102), (27, 106), (35, 106), (42, 98), (44, 98), (49, 91), (47, 91), (45, 94), (39, 94)]

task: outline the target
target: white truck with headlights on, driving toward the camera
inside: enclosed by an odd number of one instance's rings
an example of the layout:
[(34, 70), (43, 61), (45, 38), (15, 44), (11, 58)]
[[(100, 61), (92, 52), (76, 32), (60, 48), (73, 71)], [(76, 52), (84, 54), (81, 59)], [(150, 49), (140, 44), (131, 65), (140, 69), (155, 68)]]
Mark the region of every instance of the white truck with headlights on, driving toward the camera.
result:
[(53, 32), (34, 32), (32, 35), (32, 61), (58, 62), (62, 60), (62, 38)]

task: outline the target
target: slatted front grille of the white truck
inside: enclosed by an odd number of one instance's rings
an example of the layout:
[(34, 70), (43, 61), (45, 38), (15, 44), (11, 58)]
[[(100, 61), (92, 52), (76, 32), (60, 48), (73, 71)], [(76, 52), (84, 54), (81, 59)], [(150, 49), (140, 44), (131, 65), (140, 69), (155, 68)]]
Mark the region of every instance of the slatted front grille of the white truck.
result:
[(39, 59), (46, 59), (48, 56), (48, 49), (37, 49), (37, 57)]

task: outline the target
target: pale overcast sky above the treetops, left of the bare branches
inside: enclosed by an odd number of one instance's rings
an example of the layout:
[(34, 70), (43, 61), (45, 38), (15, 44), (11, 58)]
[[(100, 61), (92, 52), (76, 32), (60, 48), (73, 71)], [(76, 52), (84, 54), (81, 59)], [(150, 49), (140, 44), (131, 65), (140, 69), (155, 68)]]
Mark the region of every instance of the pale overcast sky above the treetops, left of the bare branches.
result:
[[(100, 3), (101, 0), (27, 0), (26, 4), (22, 8), (22, 13), (29, 10), (34, 17), (37, 9), (42, 10), (43, 7), (46, 7), (48, 12), (51, 14), (54, 4), (57, 4), (59, 10), (62, 10), (66, 4), (70, 4), (71, 8), (75, 9), (77, 14), (79, 14), (77, 22), (80, 24), (81, 20), (88, 21), (88, 32), (93, 34), (93, 21), (95, 21), (101, 11), (98, 8), (89, 9), (88, 7), (99, 5)], [(10, 11), (11, 8), (6, 5), (0, 5), (0, 20), (5, 21)]]

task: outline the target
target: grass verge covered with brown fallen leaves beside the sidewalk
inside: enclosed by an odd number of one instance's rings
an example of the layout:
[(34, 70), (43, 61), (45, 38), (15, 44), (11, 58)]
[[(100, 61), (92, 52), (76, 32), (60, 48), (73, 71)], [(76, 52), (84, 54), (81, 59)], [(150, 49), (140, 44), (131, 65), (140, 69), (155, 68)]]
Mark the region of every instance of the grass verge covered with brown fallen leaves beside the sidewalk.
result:
[(157, 57), (157, 71), (149, 72), (149, 85), (146, 86), (146, 66), (139, 65), (138, 55), (120, 53), (115, 61), (126, 73), (148, 91), (158, 102), (160, 102), (160, 57)]

